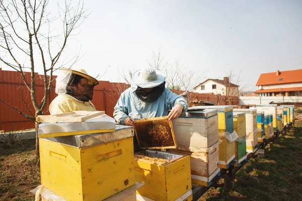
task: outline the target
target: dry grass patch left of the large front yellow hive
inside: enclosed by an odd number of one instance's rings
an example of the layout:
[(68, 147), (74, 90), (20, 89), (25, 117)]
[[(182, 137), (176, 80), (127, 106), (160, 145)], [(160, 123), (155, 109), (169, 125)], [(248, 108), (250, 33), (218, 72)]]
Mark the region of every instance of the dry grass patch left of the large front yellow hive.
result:
[(40, 184), (35, 139), (18, 146), (0, 143), (0, 200), (34, 200), (29, 191)]

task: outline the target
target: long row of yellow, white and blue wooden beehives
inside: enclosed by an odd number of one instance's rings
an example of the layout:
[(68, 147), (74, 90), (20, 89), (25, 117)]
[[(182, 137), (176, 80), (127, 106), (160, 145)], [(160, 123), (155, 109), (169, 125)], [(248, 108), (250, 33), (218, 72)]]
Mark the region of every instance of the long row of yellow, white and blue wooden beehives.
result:
[[(260, 118), (255, 109), (198, 108), (205, 110), (188, 112), (187, 117), (174, 120), (173, 126), (167, 118), (135, 123), (141, 148), (163, 147), (168, 152), (134, 154), (133, 128), (118, 126), (112, 132), (107, 120), (105, 133), (97, 129), (104, 121), (48, 125), (49, 130), (46, 125), (42, 127), (46, 133), (71, 136), (40, 139), (41, 183), (66, 200), (191, 200), (191, 182), (211, 185), (220, 168), (228, 168), (233, 161), (240, 165), (246, 152), (253, 152), (262, 141), (263, 129), (258, 132), (257, 125), (264, 125), (267, 138), (274, 127), (273, 118), (263, 118), (258, 108)], [(150, 135), (162, 130), (167, 131), (162, 136)], [(135, 182), (141, 181), (145, 184), (136, 190)], [(125, 198), (127, 190), (131, 193)]]

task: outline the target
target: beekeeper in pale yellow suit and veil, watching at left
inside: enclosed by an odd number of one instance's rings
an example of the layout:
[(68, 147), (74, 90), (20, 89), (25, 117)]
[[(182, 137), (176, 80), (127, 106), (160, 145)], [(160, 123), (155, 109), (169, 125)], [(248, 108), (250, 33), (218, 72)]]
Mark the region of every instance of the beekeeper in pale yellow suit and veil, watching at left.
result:
[(61, 68), (56, 78), (58, 94), (49, 105), (51, 115), (72, 111), (96, 111), (91, 103), (93, 89), (100, 82), (87, 74), (83, 68)]

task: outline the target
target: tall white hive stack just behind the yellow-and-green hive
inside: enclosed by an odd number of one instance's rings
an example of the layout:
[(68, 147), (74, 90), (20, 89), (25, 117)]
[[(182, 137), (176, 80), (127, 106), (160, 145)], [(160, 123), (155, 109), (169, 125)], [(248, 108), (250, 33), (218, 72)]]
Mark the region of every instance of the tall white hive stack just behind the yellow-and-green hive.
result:
[(258, 146), (256, 109), (235, 109), (234, 112), (243, 112), (246, 114), (247, 152), (254, 153)]

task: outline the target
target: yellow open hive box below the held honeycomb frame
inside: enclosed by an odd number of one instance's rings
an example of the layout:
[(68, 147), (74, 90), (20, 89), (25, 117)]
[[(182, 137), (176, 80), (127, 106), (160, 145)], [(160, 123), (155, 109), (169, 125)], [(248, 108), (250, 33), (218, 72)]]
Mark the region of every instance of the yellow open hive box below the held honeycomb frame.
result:
[(191, 186), (190, 157), (184, 156), (167, 165), (135, 160), (135, 181), (145, 184), (136, 193), (153, 200), (175, 200)]

